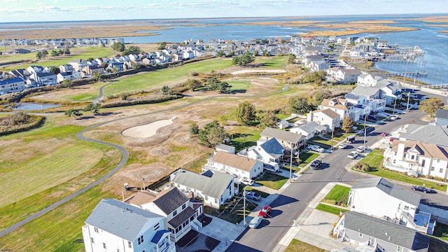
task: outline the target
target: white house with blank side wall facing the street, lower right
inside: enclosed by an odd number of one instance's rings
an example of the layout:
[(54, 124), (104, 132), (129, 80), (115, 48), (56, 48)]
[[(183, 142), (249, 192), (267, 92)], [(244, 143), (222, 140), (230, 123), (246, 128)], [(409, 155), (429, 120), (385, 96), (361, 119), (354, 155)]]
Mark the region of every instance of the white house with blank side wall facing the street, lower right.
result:
[(431, 214), (419, 210), (421, 196), (381, 177), (358, 179), (349, 191), (351, 211), (432, 234)]

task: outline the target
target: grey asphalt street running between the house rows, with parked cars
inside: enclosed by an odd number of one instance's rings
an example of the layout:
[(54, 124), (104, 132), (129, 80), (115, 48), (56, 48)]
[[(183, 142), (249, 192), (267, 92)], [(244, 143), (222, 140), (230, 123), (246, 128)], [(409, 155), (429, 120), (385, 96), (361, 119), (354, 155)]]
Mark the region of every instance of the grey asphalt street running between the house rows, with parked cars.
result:
[[(419, 121), (423, 116), (420, 111), (412, 111), (400, 116), (400, 119), (389, 121), (375, 126), (375, 131), (367, 134), (366, 146), (374, 144), (382, 137), (381, 132), (391, 132), (400, 125), (414, 121), (415, 123), (427, 124)], [(346, 172), (344, 168), (349, 162), (346, 158), (350, 151), (364, 144), (363, 137), (357, 137), (356, 142), (349, 148), (337, 150), (322, 158), (323, 165), (316, 171), (309, 170), (300, 176), (279, 197), (272, 202), (272, 216), (260, 224), (258, 229), (247, 229), (228, 248), (227, 251), (272, 251), (286, 232), (293, 225), (309, 202), (316, 197), (317, 193), (329, 182), (342, 182), (353, 184), (356, 179), (367, 179), (369, 175)], [(409, 189), (410, 190), (410, 189)], [(440, 197), (446, 201), (445, 195), (423, 195), (425, 197)], [(437, 198), (438, 199), (438, 198)], [(435, 200), (437, 201), (437, 200)]]

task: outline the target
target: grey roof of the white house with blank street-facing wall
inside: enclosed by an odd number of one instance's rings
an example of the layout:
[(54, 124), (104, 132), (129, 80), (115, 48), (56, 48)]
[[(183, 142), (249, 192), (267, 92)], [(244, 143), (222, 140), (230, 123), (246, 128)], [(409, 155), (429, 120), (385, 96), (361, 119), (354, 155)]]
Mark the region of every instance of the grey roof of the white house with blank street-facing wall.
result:
[(390, 183), (383, 178), (358, 179), (351, 187), (351, 190), (358, 188), (378, 188), (387, 195), (395, 197), (414, 206), (418, 206), (421, 200), (421, 195), (410, 190), (394, 186), (393, 183)]

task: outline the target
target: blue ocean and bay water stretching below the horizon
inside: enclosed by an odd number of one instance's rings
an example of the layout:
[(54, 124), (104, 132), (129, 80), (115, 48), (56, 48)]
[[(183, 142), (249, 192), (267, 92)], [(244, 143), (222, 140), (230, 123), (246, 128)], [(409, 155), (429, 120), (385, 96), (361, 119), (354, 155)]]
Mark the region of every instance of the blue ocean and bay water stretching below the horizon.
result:
[[(356, 34), (353, 36), (366, 37), (375, 36), (379, 39), (387, 40), (389, 44), (398, 45), (418, 45), (425, 50), (425, 55), (419, 57), (414, 63), (391, 63), (377, 62), (378, 69), (392, 73), (404, 73), (414, 71), (424, 71), (427, 76), (416, 77), (428, 84), (437, 85), (448, 83), (448, 34), (439, 31), (448, 30), (448, 27), (429, 27), (427, 25), (447, 25), (448, 23), (428, 23), (410, 18), (421, 18), (425, 15), (344, 15), (344, 16), (323, 16), (323, 17), (274, 17), (274, 18), (207, 18), (190, 20), (130, 20), (120, 21), (120, 24), (129, 25), (162, 25), (170, 28), (162, 31), (150, 31), (155, 36), (128, 36), (124, 37), (125, 43), (160, 43), (182, 42), (186, 39), (197, 41), (202, 39), (208, 41), (209, 38), (223, 38), (226, 40), (248, 41), (251, 38), (282, 37), (288, 38), (293, 34), (304, 34), (307, 31), (321, 30), (314, 27), (280, 27), (276, 25), (262, 26), (251, 25), (251, 22), (268, 21), (290, 21), (290, 20), (314, 20), (330, 22), (350, 22), (356, 20), (395, 20), (396, 26), (415, 27), (417, 31), (394, 32), (386, 34)], [(1, 29), (29, 29), (38, 27), (43, 29), (54, 29), (55, 27), (73, 27), (82, 25), (111, 25), (113, 20), (108, 21), (76, 21), (76, 22), (19, 22), (0, 23)], [(237, 25), (245, 23), (245, 25)], [(195, 25), (195, 26), (186, 26)], [(209, 26), (211, 25), (211, 26)], [(392, 26), (393, 26), (392, 25)], [(146, 31), (140, 31), (146, 32)], [(424, 64), (422, 63), (424, 62)]]

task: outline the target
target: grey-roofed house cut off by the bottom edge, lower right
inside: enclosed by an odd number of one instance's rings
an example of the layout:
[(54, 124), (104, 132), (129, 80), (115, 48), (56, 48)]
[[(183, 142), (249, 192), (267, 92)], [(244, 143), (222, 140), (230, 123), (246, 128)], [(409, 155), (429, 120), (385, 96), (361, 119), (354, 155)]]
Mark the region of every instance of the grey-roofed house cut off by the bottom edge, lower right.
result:
[(356, 251), (427, 252), (430, 237), (412, 228), (346, 211), (333, 231), (338, 240), (358, 244)]

